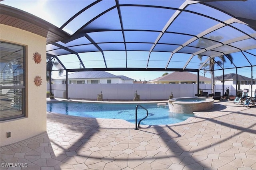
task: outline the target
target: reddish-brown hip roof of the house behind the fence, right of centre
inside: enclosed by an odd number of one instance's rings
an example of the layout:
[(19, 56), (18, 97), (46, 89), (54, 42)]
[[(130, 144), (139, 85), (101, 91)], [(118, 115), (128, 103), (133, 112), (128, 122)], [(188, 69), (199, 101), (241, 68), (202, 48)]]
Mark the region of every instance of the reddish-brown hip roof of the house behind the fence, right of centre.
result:
[[(199, 76), (200, 81), (211, 81), (210, 78)], [(170, 74), (166, 74), (165, 76), (158, 77), (150, 82), (156, 81), (197, 81), (197, 75), (190, 72), (173, 72)]]

